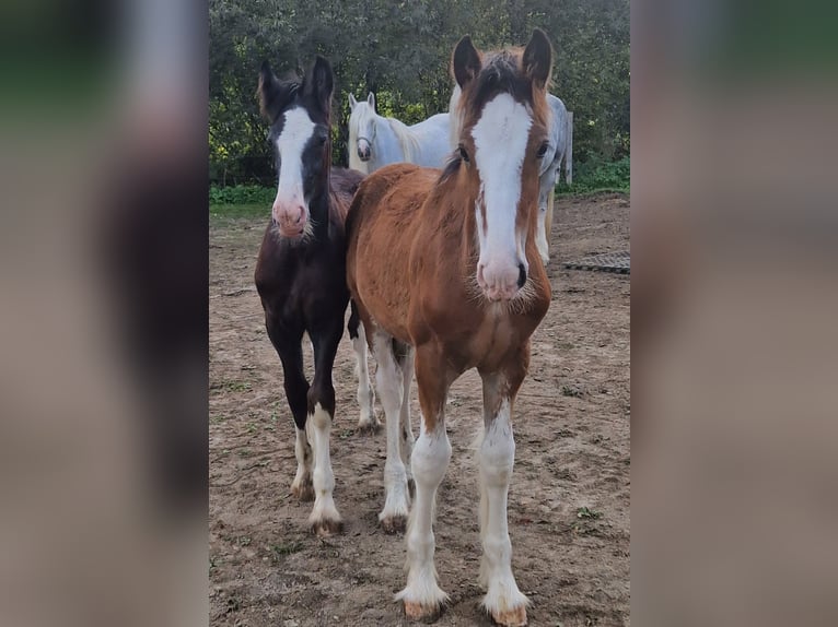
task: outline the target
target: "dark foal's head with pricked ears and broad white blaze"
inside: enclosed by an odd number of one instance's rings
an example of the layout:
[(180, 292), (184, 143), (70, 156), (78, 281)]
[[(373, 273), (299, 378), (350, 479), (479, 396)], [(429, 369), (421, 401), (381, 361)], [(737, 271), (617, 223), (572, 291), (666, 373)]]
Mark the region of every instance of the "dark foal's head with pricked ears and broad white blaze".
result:
[(279, 170), (272, 216), (283, 237), (311, 234), (310, 208), (316, 198), (328, 194), (333, 88), (331, 66), (323, 57), (316, 58), (302, 80), (279, 81), (267, 61), (259, 72), (259, 105), (270, 121), (268, 139)]

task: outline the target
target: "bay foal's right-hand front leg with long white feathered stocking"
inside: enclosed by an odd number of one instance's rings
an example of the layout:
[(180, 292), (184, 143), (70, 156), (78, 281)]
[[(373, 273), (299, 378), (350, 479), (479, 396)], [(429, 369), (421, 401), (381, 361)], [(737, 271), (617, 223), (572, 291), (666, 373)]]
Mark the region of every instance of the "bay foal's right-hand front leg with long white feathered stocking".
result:
[(515, 460), (512, 404), (525, 371), (526, 356), (520, 356), (500, 372), (480, 374), (484, 381), (484, 436), (479, 449), (484, 547), (480, 584), (486, 589), (484, 607), (504, 627), (526, 625), (528, 605), (512, 575), (512, 543), (507, 522), (507, 496)]

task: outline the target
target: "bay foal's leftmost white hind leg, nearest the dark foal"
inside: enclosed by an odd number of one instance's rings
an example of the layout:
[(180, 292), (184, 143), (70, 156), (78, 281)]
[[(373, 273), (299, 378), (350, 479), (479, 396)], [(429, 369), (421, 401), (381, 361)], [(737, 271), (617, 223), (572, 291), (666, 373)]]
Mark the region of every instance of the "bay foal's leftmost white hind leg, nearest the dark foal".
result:
[(404, 531), (409, 512), (407, 472), (401, 459), (403, 374), (396, 359), (393, 338), (383, 331), (373, 333), (373, 353), (379, 364), (375, 385), (387, 424), (387, 461), (384, 463), (386, 499), (379, 521), (387, 533)]

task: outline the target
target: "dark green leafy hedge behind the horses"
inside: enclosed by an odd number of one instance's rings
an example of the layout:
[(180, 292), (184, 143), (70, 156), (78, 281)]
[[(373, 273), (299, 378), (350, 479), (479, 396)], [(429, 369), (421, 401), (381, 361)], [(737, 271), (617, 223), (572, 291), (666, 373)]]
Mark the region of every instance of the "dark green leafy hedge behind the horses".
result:
[(350, 93), (373, 92), (380, 114), (418, 122), (447, 110), (459, 37), (520, 46), (536, 26), (556, 52), (550, 91), (574, 113), (574, 152), (629, 154), (628, 0), (210, 0), (209, 26), (210, 180), (222, 186), (276, 185), (255, 94), (264, 59), (279, 76), (329, 59), (334, 163), (345, 165)]

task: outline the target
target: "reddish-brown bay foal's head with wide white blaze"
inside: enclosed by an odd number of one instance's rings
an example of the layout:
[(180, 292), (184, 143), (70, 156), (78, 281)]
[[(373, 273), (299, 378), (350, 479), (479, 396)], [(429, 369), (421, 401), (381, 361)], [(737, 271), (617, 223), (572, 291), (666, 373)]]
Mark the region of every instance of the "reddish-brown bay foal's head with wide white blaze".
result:
[(538, 174), (548, 149), (551, 62), (552, 48), (539, 29), (523, 51), (482, 55), (468, 36), (454, 49), (462, 127), (450, 167), (458, 169), (474, 202), (476, 279), (489, 300), (510, 300), (526, 283), (527, 238), (535, 235)]

